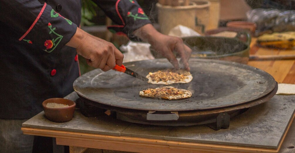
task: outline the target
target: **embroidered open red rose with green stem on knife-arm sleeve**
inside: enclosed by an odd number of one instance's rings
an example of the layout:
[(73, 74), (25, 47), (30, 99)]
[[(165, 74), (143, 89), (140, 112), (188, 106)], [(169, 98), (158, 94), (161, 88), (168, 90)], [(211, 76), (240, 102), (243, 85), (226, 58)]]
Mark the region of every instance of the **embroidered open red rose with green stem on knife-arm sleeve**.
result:
[[(56, 36), (58, 36), (58, 37), (55, 38), (55, 39), (52, 39), (52, 40), (46, 40), (46, 41), (44, 42), (44, 46), (46, 47), (46, 49), (43, 49), (43, 50), (46, 51), (46, 52), (48, 52), (48, 53), (50, 53), (50, 52), (52, 52), (52, 51), (58, 46), (58, 44), (60, 43), (61, 39), (63, 39), (63, 36), (57, 34), (57, 33), (54, 31), (56, 28), (53, 28), (53, 29), (52, 29), (52, 25), (51, 25), (50, 22), (48, 23), (47, 26), (48, 26), (48, 28), (50, 29), (49, 34), (55, 34)], [(55, 43), (56, 41), (57, 41), (57, 43)], [(52, 47), (53, 47), (53, 48), (52, 48)], [(51, 49), (51, 50), (50, 50), (50, 51), (47, 51), (47, 49)]]

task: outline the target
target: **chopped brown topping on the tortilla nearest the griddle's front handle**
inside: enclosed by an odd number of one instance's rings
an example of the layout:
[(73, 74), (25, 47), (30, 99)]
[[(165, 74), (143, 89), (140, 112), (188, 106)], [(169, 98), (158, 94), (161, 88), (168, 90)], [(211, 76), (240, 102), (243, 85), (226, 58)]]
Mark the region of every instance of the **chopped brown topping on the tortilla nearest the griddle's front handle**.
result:
[(182, 96), (185, 92), (173, 87), (149, 88), (143, 90), (144, 94), (155, 96)]

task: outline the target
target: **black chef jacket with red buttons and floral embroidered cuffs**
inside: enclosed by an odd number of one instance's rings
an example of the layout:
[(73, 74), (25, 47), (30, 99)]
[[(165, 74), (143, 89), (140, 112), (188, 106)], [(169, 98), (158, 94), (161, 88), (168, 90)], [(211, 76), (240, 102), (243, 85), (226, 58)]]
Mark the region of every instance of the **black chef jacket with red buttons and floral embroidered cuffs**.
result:
[[(108, 29), (132, 40), (150, 23), (136, 1), (95, 2), (116, 24)], [(73, 91), (78, 56), (65, 44), (80, 21), (80, 0), (0, 0), (0, 118), (33, 117), (45, 99)]]

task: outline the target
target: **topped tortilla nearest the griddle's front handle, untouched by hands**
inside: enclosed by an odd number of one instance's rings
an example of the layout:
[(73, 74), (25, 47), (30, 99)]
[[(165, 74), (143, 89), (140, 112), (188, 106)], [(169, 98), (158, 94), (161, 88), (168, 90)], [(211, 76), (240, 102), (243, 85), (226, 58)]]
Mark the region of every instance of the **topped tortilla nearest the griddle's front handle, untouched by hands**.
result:
[[(178, 94), (177, 94), (178, 93)], [(139, 92), (140, 97), (179, 100), (191, 97), (191, 92), (186, 89), (177, 89), (171, 86), (149, 88)]]

